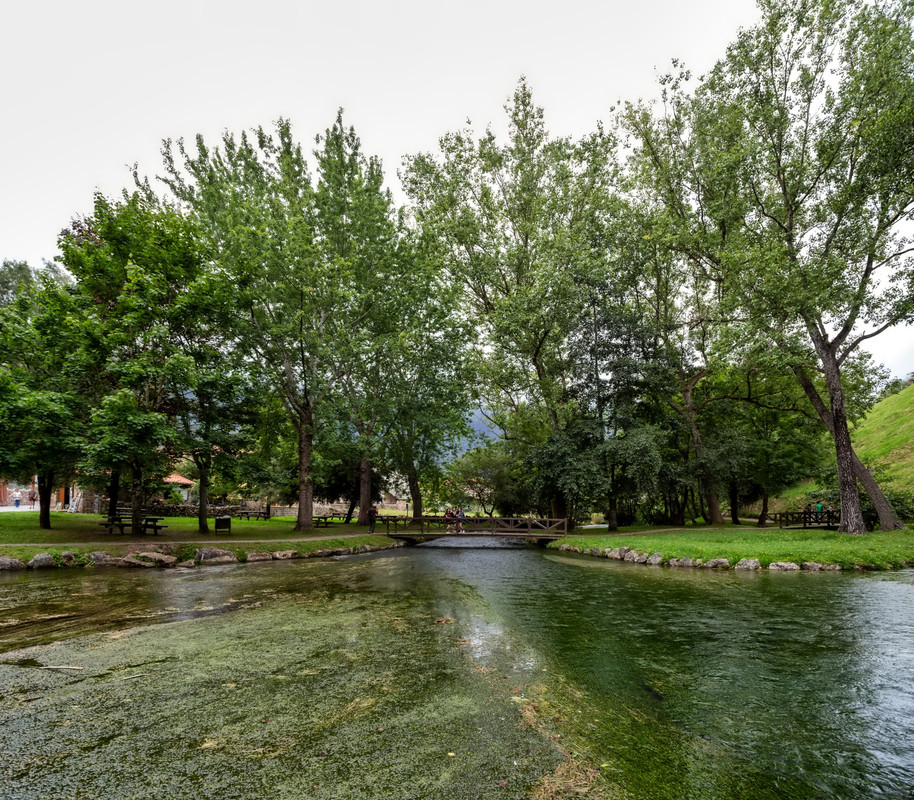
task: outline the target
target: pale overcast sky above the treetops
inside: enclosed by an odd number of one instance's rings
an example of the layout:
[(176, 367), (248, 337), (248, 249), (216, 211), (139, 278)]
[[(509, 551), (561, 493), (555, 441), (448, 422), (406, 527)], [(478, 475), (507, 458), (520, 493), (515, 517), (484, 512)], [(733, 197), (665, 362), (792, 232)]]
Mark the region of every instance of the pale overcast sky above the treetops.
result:
[[(292, 121), (304, 143), (338, 108), (398, 196), (404, 155), (504, 119), (520, 76), (553, 135), (651, 99), (681, 59), (701, 74), (753, 0), (29, 0), (0, 4), (0, 258), (39, 266), (96, 191), (161, 173), (163, 139)], [(914, 331), (874, 340), (914, 372)]]

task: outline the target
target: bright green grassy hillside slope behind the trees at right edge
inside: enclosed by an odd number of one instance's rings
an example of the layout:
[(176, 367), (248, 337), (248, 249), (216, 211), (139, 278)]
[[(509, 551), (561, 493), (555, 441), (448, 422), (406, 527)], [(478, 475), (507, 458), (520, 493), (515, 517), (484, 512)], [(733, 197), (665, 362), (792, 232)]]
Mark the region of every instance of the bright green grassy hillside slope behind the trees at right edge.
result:
[(914, 491), (914, 384), (873, 406), (851, 437), (860, 458), (885, 470), (885, 483)]

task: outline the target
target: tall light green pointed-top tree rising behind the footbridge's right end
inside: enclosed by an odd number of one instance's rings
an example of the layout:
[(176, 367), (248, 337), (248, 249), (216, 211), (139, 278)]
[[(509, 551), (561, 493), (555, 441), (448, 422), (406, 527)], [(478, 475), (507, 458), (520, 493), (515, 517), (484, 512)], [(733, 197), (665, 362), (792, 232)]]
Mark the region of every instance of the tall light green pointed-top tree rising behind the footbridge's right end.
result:
[[(478, 140), (448, 134), (440, 158), (407, 159), (405, 185), (463, 291), (467, 324), (480, 329), (488, 412), (506, 428), (521, 404), (541, 407), (542, 441), (564, 424), (565, 342), (581, 283), (604, 266), (614, 142), (602, 130), (578, 143), (550, 138), (523, 80), (506, 111), (507, 142), (491, 130)], [(560, 493), (555, 500), (565, 516)]]

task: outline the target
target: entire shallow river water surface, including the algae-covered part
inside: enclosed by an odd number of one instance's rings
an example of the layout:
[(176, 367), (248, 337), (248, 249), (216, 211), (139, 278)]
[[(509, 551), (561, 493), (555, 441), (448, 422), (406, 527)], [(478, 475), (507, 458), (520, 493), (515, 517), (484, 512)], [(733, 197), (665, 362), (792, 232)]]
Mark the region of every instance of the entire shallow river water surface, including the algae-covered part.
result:
[(0, 798), (564, 797), (569, 758), (592, 797), (910, 800), (914, 572), (443, 540), (0, 577)]

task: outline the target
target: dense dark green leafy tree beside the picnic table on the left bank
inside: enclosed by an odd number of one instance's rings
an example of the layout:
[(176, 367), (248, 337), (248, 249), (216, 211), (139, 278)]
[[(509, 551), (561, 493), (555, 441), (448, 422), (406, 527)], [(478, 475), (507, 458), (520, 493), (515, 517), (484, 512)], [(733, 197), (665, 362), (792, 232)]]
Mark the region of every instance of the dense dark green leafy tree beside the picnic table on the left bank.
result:
[(176, 330), (203, 268), (196, 237), (183, 215), (139, 193), (97, 195), (92, 216), (74, 220), (59, 245), (76, 278), (78, 357), (98, 370), (83, 466), (110, 476), (112, 506), (127, 470), (138, 531), (146, 495), (171, 471), (172, 419), (190, 387), (193, 361)]

